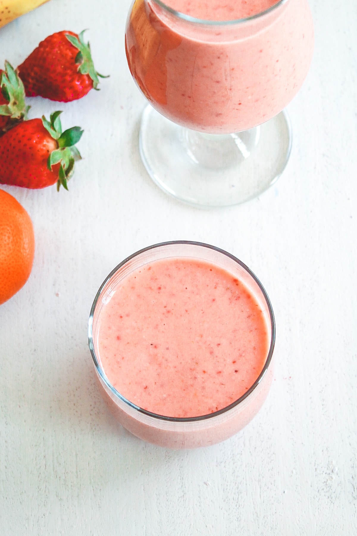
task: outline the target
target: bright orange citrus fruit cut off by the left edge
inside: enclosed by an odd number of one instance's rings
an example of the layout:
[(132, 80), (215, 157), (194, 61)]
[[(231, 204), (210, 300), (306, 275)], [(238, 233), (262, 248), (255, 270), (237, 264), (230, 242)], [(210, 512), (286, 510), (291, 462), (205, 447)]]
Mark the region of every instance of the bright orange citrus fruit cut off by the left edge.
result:
[(10, 193), (0, 190), (0, 304), (25, 285), (34, 252), (31, 218)]

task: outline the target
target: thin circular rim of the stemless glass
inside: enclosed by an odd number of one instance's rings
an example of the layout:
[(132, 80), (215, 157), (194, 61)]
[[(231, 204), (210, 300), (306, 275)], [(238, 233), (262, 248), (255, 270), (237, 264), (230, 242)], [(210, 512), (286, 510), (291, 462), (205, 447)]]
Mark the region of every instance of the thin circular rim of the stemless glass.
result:
[[(221, 254), (225, 255), (226, 257), (229, 257), (230, 259), (234, 260), (234, 262), (239, 264), (249, 274), (249, 276), (253, 278), (253, 280), (259, 286), (259, 289), (263, 294), (264, 300), (267, 303), (268, 310), (269, 310), (269, 315), (270, 315), (270, 322), (271, 322), (271, 341), (270, 341), (270, 347), (269, 347), (268, 356), (267, 356), (267, 359), (265, 360), (264, 367), (263, 367), (260, 375), (257, 377), (257, 379), (255, 380), (253, 385), (251, 385), (250, 388), (244, 394), (242, 394), (241, 397), (239, 397), (237, 400), (232, 402), (232, 404), (230, 404), (229, 406), (225, 406), (221, 410), (215, 411), (213, 413), (208, 413), (206, 415), (198, 415), (198, 416), (195, 416), (195, 417), (170, 417), (170, 416), (167, 416), (167, 415), (160, 415), (158, 413), (153, 413), (153, 412), (144, 410), (140, 406), (137, 406), (136, 404), (132, 403), (130, 400), (125, 398), (109, 382), (107, 376), (105, 376), (104, 370), (102, 369), (100, 363), (97, 360), (97, 356), (95, 354), (94, 344), (93, 344), (93, 317), (94, 317), (94, 311), (95, 311), (98, 299), (101, 296), (102, 291), (103, 291), (105, 285), (107, 285), (108, 281), (117, 273), (118, 270), (120, 270), (121, 267), (123, 267), (131, 259), (133, 259), (135, 257), (138, 257), (139, 255), (145, 253), (146, 251), (150, 251), (151, 249), (165, 247), (165, 246), (168, 246), (168, 245), (177, 245), (177, 244), (196, 245), (196, 246), (199, 246), (199, 247), (212, 249), (214, 251), (217, 251), (218, 253), (221, 253)], [(221, 248), (217, 248), (214, 245), (206, 244), (204, 242), (194, 242), (194, 241), (189, 241), (189, 240), (188, 241), (187, 240), (173, 240), (173, 241), (170, 241), (170, 242), (159, 242), (157, 244), (149, 245), (146, 248), (143, 248), (143, 249), (140, 249), (139, 251), (136, 251), (135, 253), (133, 253), (129, 257), (126, 257), (123, 261), (121, 261), (121, 263), (119, 263), (115, 267), (115, 269), (113, 269), (110, 272), (110, 274), (104, 279), (102, 285), (98, 289), (98, 292), (97, 292), (97, 294), (96, 294), (96, 296), (94, 298), (94, 301), (93, 301), (93, 304), (92, 304), (92, 309), (90, 309), (90, 315), (89, 315), (89, 321), (88, 321), (88, 343), (89, 343), (90, 353), (92, 354), (92, 358), (93, 358), (93, 361), (94, 361), (94, 366), (96, 368), (97, 373), (100, 375), (100, 377), (101, 377), (102, 381), (104, 382), (104, 384), (107, 385), (108, 389), (111, 391), (112, 394), (115, 395), (116, 398), (119, 398), (119, 400), (123, 401), (125, 404), (127, 404), (128, 406), (130, 406), (134, 410), (136, 410), (136, 411), (138, 411), (138, 412), (140, 412), (140, 413), (142, 413), (144, 415), (147, 415), (147, 416), (149, 416), (151, 418), (154, 418), (154, 419), (158, 419), (158, 420), (161, 420), (161, 421), (169, 421), (169, 422), (197, 422), (197, 421), (204, 421), (204, 420), (207, 420), (207, 419), (211, 419), (211, 418), (214, 418), (214, 417), (216, 417), (218, 415), (223, 415), (224, 413), (232, 410), (234, 407), (238, 406), (246, 398), (248, 398), (249, 395), (252, 394), (253, 391), (257, 388), (257, 386), (261, 383), (262, 379), (264, 378), (265, 374), (268, 371), (268, 368), (269, 368), (271, 360), (272, 360), (272, 354), (274, 352), (274, 346), (275, 346), (275, 318), (274, 318), (274, 312), (272, 310), (272, 306), (271, 306), (268, 294), (267, 294), (267, 292), (265, 292), (265, 289), (264, 289), (263, 285), (261, 284), (260, 280), (255, 276), (255, 274), (252, 272), (252, 270), (250, 270), (248, 268), (248, 266), (246, 266), (244, 263), (242, 263), (241, 260), (239, 260), (237, 257), (234, 257), (234, 255), (230, 254), (229, 252), (227, 252), (227, 251), (225, 251), (225, 250), (223, 250)]]

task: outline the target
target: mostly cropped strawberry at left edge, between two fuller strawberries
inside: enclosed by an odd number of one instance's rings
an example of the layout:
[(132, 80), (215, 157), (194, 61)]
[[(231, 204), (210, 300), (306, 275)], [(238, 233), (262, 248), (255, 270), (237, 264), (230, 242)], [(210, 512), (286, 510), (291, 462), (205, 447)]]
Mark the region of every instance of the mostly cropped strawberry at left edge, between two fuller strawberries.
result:
[(0, 136), (6, 130), (27, 119), (29, 106), (25, 104), (25, 89), (17, 73), (5, 61), (5, 71), (0, 70)]

